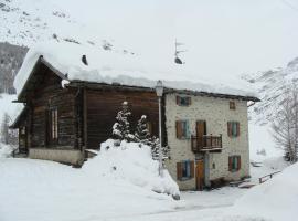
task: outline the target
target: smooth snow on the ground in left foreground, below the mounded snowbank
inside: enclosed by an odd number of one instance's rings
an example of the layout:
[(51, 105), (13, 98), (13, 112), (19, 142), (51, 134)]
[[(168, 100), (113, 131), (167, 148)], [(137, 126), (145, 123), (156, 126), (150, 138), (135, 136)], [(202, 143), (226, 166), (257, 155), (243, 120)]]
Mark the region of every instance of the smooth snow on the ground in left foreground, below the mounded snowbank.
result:
[(0, 176), (1, 221), (93, 221), (177, 207), (167, 194), (52, 161), (1, 159)]

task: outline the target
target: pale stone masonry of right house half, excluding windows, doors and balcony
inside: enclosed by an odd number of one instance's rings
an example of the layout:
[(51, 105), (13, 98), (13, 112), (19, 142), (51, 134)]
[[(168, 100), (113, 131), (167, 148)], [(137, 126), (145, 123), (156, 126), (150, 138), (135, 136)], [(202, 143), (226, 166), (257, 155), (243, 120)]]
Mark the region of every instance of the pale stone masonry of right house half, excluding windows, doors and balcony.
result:
[[(175, 136), (175, 120), (183, 119), (189, 120), (192, 135), (196, 134), (196, 120), (206, 122), (206, 134), (222, 134), (222, 152), (209, 154), (210, 180), (221, 177), (226, 180), (238, 180), (242, 177), (249, 176), (247, 103), (245, 101), (233, 101), (236, 109), (230, 109), (231, 99), (191, 96), (191, 105), (183, 107), (177, 105), (175, 96), (177, 94), (166, 95), (166, 127), (168, 145), (171, 148), (171, 159), (166, 162), (166, 166), (171, 176), (174, 179), (177, 178), (178, 161), (195, 160), (190, 139), (178, 139)], [(240, 136), (236, 138), (227, 136), (227, 122), (230, 120), (240, 123)], [(228, 156), (232, 155), (241, 156), (242, 168), (236, 172), (228, 171)], [(178, 185), (181, 190), (195, 189), (195, 178), (178, 181)]]

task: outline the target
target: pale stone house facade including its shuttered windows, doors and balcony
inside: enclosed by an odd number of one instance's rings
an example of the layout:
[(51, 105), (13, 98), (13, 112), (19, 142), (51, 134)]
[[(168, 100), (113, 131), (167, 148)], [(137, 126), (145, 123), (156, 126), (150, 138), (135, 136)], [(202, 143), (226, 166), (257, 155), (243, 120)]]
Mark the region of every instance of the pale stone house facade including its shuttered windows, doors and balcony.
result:
[(167, 168), (182, 190), (249, 176), (247, 101), (171, 93), (164, 106)]

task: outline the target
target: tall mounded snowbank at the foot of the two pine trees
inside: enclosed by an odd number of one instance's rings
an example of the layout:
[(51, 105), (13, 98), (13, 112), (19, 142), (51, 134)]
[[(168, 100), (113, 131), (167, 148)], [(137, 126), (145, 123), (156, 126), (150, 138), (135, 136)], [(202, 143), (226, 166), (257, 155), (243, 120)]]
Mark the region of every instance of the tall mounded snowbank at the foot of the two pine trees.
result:
[(158, 175), (158, 161), (151, 157), (149, 146), (139, 147), (137, 143), (121, 141), (119, 147), (108, 139), (100, 146), (98, 155), (84, 164), (86, 173), (97, 175), (105, 179), (126, 180), (138, 187), (179, 197), (178, 185), (168, 170), (163, 177)]

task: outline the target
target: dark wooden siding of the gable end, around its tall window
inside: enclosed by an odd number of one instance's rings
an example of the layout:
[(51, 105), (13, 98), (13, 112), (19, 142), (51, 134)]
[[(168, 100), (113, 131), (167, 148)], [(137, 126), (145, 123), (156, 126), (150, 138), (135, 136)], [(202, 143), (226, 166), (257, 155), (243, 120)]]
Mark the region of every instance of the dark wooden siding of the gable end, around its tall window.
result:
[(58, 140), (55, 146), (76, 146), (75, 90), (61, 87), (61, 78), (45, 65), (42, 65), (38, 75), (43, 75), (36, 83), (32, 96), (28, 97), (31, 109), (31, 147), (53, 147), (49, 143), (46, 120), (49, 109), (57, 108)]

